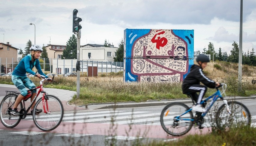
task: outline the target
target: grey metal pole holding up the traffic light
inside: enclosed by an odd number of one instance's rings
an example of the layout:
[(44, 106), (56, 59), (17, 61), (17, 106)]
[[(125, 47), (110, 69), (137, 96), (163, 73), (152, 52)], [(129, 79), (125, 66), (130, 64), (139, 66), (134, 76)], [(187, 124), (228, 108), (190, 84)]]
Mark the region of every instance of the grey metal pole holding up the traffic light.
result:
[[(77, 69), (76, 76), (76, 98), (80, 97), (80, 38), (81, 38), (81, 29), (77, 33), (77, 64), (79, 64), (79, 70)], [(77, 67), (78, 68), (78, 67)]]

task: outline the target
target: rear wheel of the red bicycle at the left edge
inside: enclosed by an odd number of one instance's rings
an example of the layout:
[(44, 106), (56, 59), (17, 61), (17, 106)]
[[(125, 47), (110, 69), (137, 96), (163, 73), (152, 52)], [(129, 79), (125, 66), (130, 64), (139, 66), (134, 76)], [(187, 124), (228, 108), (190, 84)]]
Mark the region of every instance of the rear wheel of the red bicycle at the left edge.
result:
[[(16, 94), (7, 94), (0, 104), (0, 119), (2, 124), (7, 128), (13, 128), (17, 126), (21, 120), (20, 116), (13, 116), (10, 114), (16, 98)], [(20, 103), (17, 110), (20, 111), (23, 106)]]

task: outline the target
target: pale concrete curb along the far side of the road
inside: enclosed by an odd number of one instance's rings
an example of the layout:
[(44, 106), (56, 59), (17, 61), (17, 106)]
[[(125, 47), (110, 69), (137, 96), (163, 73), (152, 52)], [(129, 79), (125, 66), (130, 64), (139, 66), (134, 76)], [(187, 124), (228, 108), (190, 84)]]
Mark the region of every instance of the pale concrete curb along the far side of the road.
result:
[[(229, 98), (227, 99), (227, 101), (230, 100), (243, 100), (243, 99), (256, 99), (256, 97), (233, 97), (233, 96), (228, 96)], [(233, 97), (233, 98), (232, 98)], [(184, 101), (186, 100), (186, 101)], [(209, 100), (211, 101), (211, 99)], [(217, 99), (217, 102), (221, 101), (221, 99)], [(118, 102), (118, 103), (93, 103), (93, 104), (87, 104), (87, 105), (81, 105), (79, 107), (89, 107), (90, 105), (102, 105), (102, 107), (96, 107), (94, 108), (96, 109), (114, 109), (114, 108), (127, 108), (127, 107), (151, 107), (151, 106), (164, 106), (167, 105), (171, 102), (181, 102), (184, 104), (190, 104), (193, 103), (191, 99), (169, 99), (169, 100), (149, 100), (147, 102), (157, 102), (157, 103), (140, 103), (140, 102)], [(130, 104), (129, 104), (130, 103)], [(105, 104), (111, 104), (111, 105), (105, 105)]]

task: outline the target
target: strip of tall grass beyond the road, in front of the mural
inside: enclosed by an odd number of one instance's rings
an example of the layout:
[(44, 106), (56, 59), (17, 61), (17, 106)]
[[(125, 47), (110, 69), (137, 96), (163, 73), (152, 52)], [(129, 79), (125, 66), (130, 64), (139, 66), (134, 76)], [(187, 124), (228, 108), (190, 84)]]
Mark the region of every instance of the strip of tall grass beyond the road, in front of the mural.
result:
[[(145, 102), (147, 100), (184, 99), (181, 83), (124, 83), (123, 77), (112, 73), (108, 77), (81, 77), (80, 98), (76, 95), (70, 104), (84, 105), (102, 102)], [(32, 77), (31, 80), (38, 86), (40, 79)], [(76, 77), (55, 77), (56, 82), (45, 82), (44, 87), (76, 91)], [(219, 82), (227, 84), (227, 96), (250, 96), (256, 94), (256, 85), (243, 82), (242, 92), (238, 92), (238, 81), (234, 74), (230, 74)], [(13, 84), (11, 77), (1, 77), (0, 84)], [(208, 88), (206, 96), (212, 95), (216, 90)]]

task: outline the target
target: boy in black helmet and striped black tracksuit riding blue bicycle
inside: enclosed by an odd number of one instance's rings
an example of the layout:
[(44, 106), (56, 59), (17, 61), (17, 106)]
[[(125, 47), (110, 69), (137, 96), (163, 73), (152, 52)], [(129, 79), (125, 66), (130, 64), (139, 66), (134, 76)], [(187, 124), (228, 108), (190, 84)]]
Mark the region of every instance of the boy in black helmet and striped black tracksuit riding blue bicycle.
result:
[[(197, 56), (198, 64), (193, 64), (191, 66), (190, 72), (187, 74), (182, 83), (183, 93), (191, 94), (192, 98), (197, 102), (196, 106), (192, 107), (192, 110), (200, 113), (206, 112), (206, 109), (202, 107), (200, 102), (207, 91), (207, 87), (215, 88), (220, 85), (220, 83), (214, 82), (203, 74), (203, 69), (207, 66), (208, 62), (210, 62), (208, 56), (205, 54), (199, 54)], [(200, 82), (202, 82), (205, 86), (200, 85)], [(199, 95), (197, 92), (199, 92)]]

